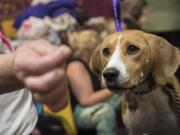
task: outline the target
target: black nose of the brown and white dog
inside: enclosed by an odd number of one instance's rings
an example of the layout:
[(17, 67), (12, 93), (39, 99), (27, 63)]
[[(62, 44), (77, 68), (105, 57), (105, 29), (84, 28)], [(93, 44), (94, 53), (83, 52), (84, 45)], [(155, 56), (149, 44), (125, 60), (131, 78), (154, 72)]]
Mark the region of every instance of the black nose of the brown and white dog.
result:
[(119, 76), (119, 71), (116, 68), (107, 68), (104, 73), (103, 77), (107, 82), (115, 81)]

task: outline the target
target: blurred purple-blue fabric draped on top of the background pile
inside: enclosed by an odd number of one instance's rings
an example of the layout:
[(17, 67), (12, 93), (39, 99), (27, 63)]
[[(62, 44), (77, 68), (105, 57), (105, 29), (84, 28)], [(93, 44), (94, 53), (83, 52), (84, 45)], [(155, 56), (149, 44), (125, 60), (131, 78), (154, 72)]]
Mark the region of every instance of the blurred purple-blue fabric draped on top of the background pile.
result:
[(48, 4), (38, 4), (31, 6), (23, 11), (14, 23), (14, 27), (18, 29), (22, 22), (30, 16), (44, 18), (45, 16), (57, 17), (65, 12), (77, 18), (75, 8), (78, 6), (76, 0), (54, 0)]

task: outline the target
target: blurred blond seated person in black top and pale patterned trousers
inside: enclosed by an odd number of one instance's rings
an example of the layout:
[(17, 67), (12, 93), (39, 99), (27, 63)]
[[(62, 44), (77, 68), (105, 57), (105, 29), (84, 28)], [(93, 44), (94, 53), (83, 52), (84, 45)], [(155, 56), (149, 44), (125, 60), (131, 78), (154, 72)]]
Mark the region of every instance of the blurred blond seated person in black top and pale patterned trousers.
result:
[(72, 33), (70, 38), (74, 58), (67, 65), (67, 76), (79, 133), (116, 135), (116, 109), (111, 103), (116, 100), (116, 107), (119, 108), (119, 96), (113, 96), (108, 89), (102, 88), (97, 76), (88, 66), (100, 37), (96, 31), (84, 30)]

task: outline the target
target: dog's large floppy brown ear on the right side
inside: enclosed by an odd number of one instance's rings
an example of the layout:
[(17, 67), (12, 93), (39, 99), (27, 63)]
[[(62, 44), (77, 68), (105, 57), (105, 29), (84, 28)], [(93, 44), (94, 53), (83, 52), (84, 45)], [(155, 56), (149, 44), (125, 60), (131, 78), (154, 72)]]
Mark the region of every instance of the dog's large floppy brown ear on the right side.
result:
[(151, 50), (152, 77), (158, 85), (163, 86), (179, 68), (179, 50), (161, 37), (149, 35), (146, 39)]

